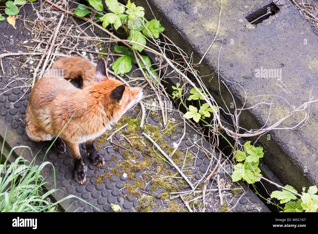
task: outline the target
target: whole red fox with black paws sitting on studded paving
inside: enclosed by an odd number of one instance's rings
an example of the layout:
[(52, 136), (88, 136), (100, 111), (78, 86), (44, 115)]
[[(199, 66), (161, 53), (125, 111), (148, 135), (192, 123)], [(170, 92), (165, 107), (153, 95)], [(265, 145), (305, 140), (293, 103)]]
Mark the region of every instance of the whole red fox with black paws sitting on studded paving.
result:
[[(52, 75), (52, 71), (62, 72)], [(63, 76), (79, 79), (80, 88)], [(93, 140), (140, 102), (142, 95), (142, 88), (127, 87), (123, 82), (107, 77), (103, 58), (99, 59), (96, 68), (82, 57), (62, 58), (32, 88), (26, 108), (25, 130), (33, 141), (52, 140), (75, 112), (54, 147), (59, 153), (64, 153), (66, 141), (73, 157), (73, 177), (83, 184), (86, 173), (79, 144), (85, 142), (86, 153), (94, 165), (104, 165), (104, 158), (95, 150)]]

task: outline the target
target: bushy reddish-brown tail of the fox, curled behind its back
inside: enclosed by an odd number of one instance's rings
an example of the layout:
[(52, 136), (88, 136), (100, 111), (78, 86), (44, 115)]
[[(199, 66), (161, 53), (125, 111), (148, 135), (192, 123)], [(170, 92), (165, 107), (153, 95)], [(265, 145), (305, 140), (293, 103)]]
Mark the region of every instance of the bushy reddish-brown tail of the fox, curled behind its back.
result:
[(77, 80), (79, 88), (83, 89), (94, 82), (95, 70), (96, 67), (89, 60), (80, 56), (72, 56), (56, 60), (44, 77)]

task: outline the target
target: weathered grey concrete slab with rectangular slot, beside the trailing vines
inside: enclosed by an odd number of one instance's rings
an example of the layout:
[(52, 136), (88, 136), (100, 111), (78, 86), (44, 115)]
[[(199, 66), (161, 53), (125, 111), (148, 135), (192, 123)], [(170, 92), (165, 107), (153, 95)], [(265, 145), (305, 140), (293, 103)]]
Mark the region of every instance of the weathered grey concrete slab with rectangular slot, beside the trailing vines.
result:
[[(194, 63), (199, 62), (210, 46), (218, 27), (218, 1), (168, 1), (149, 0), (154, 14), (161, 19), (165, 34), (176, 42), (187, 54), (194, 52)], [(317, 86), (318, 72), (318, 37), (311, 25), (289, 1), (279, 1), (280, 11), (264, 20), (254, 28), (246, 28), (245, 19), (254, 11), (271, 1), (222, 1), (222, 15), (218, 37), (223, 39), (219, 57), (219, 72), (235, 97), (237, 104), (243, 103), (245, 93), (231, 82), (237, 82), (245, 88), (247, 99), (265, 94), (283, 96), (290, 101), (290, 95), (276, 89), (277, 78), (256, 78), (256, 69), (281, 69), (281, 81), (293, 94), (293, 105), (300, 106), (308, 101), (313, 86)], [(137, 5), (149, 9), (147, 3), (136, 1)], [(148, 13), (147, 13), (148, 12)], [(146, 17), (152, 13), (146, 10)], [(199, 66), (200, 75), (209, 75), (218, 67), (218, 55), (221, 40), (216, 41), (204, 61)], [(228, 91), (221, 87), (225, 103), (218, 91), (218, 77), (207, 76), (209, 85), (219, 105), (229, 107), (233, 100)], [(312, 95), (318, 96), (317, 89)], [(265, 98), (253, 99), (247, 107)], [(271, 123), (279, 120), (290, 111), (290, 106), (277, 98), (267, 101), (278, 102), (273, 106)], [(240, 104), (239, 104), (240, 105)], [(239, 107), (238, 107), (239, 108)], [(264, 161), (275, 171), (285, 184), (295, 186), (301, 191), (302, 186), (318, 184), (318, 130), (317, 105), (310, 107), (310, 117), (304, 127), (297, 130), (275, 130), (271, 138), (265, 135), (259, 139), (267, 155)], [(253, 112), (244, 112), (240, 125), (247, 129), (258, 129), (267, 120), (268, 108), (262, 106)], [(280, 127), (294, 126), (305, 117), (298, 113), (290, 117)], [(253, 138), (251, 138), (252, 140)], [(254, 138), (255, 140), (256, 138)]]

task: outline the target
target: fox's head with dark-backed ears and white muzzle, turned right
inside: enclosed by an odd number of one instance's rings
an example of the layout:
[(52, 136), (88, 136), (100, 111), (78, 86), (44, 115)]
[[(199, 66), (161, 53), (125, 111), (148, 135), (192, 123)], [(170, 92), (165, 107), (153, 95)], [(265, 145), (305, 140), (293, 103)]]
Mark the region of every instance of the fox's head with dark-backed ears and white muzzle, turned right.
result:
[(123, 82), (106, 74), (106, 62), (100, 58), (97, 63), (94, 81), (98, 83), (95, 92), (102, 101), (110, 122), (117, 122), (127, 110), (142, 99), (143, 88), (128, 87)]

